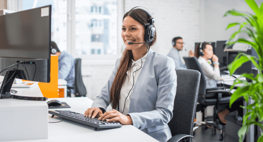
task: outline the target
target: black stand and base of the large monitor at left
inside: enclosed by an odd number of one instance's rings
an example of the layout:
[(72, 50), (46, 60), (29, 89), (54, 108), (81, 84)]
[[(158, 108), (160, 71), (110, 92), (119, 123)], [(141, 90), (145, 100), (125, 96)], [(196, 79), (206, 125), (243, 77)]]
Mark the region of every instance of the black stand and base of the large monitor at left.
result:
[(26, 96), (17, 96), (11, 95), (10, 90), (13, 85), (16, 76), (21, 76), (20, 70), (7, 70), (0, 87), (0, 99), (21, 99), (21, 100), (32, 100), (32, 101), (46, 101), (47, 97), (26, 97)]

